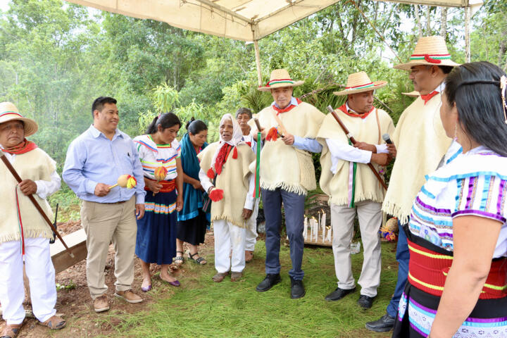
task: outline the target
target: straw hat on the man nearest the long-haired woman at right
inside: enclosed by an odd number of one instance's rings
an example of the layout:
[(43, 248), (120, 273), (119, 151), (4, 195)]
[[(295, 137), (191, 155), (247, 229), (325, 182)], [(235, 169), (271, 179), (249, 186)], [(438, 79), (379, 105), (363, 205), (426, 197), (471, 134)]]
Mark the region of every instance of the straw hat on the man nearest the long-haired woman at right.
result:
[(395, 65), (396, 69), (410, 70), (414, 65), (451, 65), (456, 63), (451, 60), (451, 54), (447, 51), (443, 37), (421, 37), (415, 44), (415, 49), (408, 63)]

